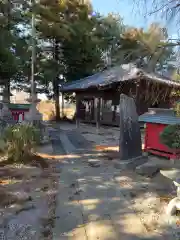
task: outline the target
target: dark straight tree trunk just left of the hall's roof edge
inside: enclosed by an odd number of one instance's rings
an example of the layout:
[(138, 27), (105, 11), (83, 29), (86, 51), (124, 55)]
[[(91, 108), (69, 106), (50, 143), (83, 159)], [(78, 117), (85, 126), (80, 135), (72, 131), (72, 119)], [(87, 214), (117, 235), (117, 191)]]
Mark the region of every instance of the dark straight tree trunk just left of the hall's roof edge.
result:
[[(54, 41), (54, 60), (56, 63), (59, 61), (59, 46), (58, 41)], [(53, 80), (54, 101), (56, 110), (56, 121), (60, 120), (60, 105), (59, 105), (59, 74), (57, 71), (56, 77)]]

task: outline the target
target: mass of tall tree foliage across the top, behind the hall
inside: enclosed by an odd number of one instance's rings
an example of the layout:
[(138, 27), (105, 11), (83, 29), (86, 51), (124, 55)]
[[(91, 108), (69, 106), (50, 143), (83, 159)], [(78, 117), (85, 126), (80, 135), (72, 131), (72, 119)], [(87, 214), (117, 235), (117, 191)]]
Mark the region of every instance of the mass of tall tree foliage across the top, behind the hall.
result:
[(54, 96), (57, 108), (59, 84), (101, 71), (107, 59), (109, 65), (138, 60), (154, 70), (172, 57), (173, 49), (166, 48), (167, 31), (158, 24), (147, 31), (128, 28), (118, 15), (94, 15), (89, 1), (40, 0), (33, 8), (30, 0), (17, 2), (0, 1), (0, 79), (15, 82), (15, 87), (29, 83), (34, 12), (35, 80)]

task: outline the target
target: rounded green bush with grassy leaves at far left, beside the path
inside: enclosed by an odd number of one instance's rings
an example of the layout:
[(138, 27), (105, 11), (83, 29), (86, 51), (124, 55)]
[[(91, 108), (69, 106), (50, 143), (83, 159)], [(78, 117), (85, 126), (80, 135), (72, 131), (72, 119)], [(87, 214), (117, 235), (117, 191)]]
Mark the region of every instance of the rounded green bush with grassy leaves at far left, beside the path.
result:
[(40, 142), (40, 133), (30, 124), (8, 126), (4, 131), (5, 149), (8, 159), (26, 161)]

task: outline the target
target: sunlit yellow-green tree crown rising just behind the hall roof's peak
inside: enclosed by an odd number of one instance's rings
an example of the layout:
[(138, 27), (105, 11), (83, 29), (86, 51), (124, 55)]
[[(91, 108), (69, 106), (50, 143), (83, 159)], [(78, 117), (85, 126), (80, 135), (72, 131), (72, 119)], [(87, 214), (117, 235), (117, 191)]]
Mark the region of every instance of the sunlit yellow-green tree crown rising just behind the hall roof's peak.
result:
[(150, 71), (168, 68), (168, 62), (174, 57), (172, 47), (168, 47), (167, 29), (153, 23), (147, 31), (129, 28), (123, 34), (123, 45), (127, 61), (140, 60), (142, 66)]

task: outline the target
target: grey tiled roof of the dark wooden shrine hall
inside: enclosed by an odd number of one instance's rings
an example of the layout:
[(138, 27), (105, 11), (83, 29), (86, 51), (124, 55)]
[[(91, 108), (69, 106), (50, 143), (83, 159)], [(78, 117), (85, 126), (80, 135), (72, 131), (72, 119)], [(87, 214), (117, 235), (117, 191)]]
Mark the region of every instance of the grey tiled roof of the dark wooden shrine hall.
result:
[(175, 82), (156, 73), (148, 73), (140, 68), (137, 68), (134, 64), (124, 64), (121, 66), (112, 67), (78, 81), (66, 83), (62, 85), (61, 91), (68, 92), (88, 89), (92, 87), (107, 86), (112, 83), (136, 79), (139, 74), (141, 74), (141, 76), (144, 76), (144, 78), (147, 80), (180, 88), (180, 82)]

